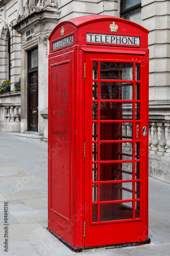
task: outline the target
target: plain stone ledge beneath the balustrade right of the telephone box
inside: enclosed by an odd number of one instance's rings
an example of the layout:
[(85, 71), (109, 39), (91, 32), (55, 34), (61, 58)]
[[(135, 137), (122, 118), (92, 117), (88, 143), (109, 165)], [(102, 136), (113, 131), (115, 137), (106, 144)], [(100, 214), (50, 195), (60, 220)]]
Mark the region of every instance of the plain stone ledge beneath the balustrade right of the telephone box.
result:
[(170, 157), (149, 154), (149, 176), (170, 183)]

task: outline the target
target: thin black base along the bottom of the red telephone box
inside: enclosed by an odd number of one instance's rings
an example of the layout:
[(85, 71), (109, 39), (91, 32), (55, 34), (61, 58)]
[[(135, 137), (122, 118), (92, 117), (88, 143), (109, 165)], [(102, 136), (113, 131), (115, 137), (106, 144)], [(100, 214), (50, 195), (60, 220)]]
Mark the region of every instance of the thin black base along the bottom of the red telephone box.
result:
[(76, 248), (76, 247), (70, 245), (69, 243), (67, 243), (64, 239), (57, 236), (57, 234), (55, 234), (53, 231), (51, 231), (48, 227), (46, 229), (48, 231), (50, 231), (53, 234), (53, 236), (56, 237), (60, 242), (62, 242), (71, 251), (74, 251), (74, 252), (81, 252), (83, 250), (92, 249), (92, 248), (101, 248), (101, 247), (104, 248), (104, 247), (106, 247), (106, 249), (114, 249), (114, 248), (123, 248), (123, 247), (129, 247), (129, 246), (139, 246), (139, 245), (150, 244), (151, 243), (151, 239), (147, 238), (145, 241), (141, 241), (141, 242), (133, 242), (133, 243), (126, 243), (126, 244), (111, 244), (111, 245), (101, 245), (101, 246), (91, 246), (91, 247), (77, 247)]

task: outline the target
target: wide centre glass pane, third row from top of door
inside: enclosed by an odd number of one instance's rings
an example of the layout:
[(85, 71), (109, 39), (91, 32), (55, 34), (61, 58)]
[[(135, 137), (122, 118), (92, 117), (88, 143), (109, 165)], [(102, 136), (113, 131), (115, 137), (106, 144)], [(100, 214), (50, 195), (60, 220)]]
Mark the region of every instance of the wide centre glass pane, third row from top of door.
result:
[(132, 119), (132, 114), (133, 103), (101, 102), (101, 120), (129, 120)]

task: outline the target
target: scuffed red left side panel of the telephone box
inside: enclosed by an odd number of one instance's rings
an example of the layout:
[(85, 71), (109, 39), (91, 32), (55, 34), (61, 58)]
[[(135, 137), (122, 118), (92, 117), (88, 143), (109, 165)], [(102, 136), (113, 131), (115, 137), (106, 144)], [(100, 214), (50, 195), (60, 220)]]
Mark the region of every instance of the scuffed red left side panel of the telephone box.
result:
[(70, 83), (72, 56), (50, 60), (49, 79), (49, 228), (72, 243)]

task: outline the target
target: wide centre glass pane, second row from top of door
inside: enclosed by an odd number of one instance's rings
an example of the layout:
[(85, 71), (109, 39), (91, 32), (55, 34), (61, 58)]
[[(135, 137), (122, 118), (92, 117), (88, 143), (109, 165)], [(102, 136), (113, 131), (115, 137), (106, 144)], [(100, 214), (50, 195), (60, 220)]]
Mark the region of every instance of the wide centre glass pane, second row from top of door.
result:
[(133, 100), (133, 83), (101, 82), (101, 99)]

